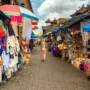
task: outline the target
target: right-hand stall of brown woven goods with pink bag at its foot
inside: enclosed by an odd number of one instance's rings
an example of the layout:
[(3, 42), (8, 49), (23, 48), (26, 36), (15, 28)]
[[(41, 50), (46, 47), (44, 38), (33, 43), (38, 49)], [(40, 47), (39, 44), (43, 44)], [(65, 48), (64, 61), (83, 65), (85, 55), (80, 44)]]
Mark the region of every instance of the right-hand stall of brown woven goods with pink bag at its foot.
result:
[(68, 62), (77, 69), (87, 71), (87, 54), (83, 50), (83, 41), (80, 31), (69, 31), (65, 36), (68, 44)]

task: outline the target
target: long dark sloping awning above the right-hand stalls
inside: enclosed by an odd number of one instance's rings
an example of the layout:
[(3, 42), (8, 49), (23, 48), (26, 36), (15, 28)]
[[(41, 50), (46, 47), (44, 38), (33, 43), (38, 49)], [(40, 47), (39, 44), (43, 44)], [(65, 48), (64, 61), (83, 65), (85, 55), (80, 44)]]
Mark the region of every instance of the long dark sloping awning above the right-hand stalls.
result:
[(79, 22), (87, 17), (90, 17), (90, 14), (84, 14), (84, 15), (72, 17), (70, 20), (65, 22), (61, 28), (65, 29), (65, 28), (71, 27), (73, 24), (75, 24), (75, 23), (77, 23), (77, 22)]

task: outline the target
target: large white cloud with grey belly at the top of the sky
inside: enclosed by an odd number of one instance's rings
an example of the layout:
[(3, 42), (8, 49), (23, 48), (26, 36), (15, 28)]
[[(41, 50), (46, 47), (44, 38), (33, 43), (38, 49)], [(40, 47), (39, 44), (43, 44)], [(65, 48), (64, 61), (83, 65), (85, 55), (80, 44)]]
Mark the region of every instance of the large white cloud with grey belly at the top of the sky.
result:
[[(87, 4), (87, 1), (80, 0), (45, 0), (41, 6), (38, 8), (38, 14), (49, 14), (57, 12), (62, 15), (71, 14), (75, 11), (81, 4)], [(64, 15), (64, 16), (65, 16)]]

